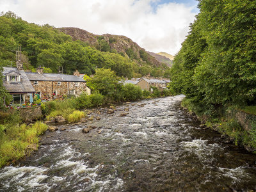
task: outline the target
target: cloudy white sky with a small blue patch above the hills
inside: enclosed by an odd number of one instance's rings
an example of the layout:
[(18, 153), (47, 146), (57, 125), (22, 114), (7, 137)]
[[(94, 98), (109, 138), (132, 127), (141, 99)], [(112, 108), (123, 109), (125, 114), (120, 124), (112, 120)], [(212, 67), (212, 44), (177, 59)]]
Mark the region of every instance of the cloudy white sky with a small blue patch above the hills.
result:
[(0, 0), (0, 12), (56, 28), (125, 35), (146, 51), (175, 55), (199, 12), (195, 0)]

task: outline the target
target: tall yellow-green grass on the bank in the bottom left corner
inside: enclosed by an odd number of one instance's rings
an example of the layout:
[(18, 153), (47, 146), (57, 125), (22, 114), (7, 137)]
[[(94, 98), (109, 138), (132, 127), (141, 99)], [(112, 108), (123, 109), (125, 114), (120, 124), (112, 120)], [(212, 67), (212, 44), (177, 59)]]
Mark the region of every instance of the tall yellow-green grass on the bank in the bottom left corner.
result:
[(5, 124), (0, 129), (0, 168), (30, 154), (38, 147), (38, 136), (47, 130), (42, 122), (33, 125)]

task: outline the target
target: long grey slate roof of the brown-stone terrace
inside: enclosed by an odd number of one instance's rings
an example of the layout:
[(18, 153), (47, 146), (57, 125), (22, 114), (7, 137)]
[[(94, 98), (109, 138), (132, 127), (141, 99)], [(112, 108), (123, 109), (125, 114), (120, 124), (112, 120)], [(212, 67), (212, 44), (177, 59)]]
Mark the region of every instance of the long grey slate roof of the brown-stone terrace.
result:
[(68, 81), (86, 82), (83, 78), (65, 74), (38, 74), (37, 72), (26, 72), (30, 81)]

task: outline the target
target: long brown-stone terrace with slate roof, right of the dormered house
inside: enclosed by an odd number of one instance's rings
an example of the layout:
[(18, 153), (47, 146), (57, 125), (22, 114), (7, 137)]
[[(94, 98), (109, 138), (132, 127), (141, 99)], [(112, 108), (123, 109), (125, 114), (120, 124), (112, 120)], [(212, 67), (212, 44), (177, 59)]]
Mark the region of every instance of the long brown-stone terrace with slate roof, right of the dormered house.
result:
[(44, 69), (36, 68), (36, 72), (25, 72), (35, 89), (36, 95), (42, 100), (51, 100), (64, 97), (65, 95), (78, 96), (82, 92), (91, 94), (86, 81), (79, 77), (79, 72), (74, 75), (44, 74)]

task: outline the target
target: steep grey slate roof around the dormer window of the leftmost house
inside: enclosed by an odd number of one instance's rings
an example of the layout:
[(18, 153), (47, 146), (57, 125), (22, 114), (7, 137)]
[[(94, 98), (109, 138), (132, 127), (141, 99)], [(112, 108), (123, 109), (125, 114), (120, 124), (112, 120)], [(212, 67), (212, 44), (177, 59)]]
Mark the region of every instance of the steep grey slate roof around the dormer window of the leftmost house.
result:
[[(36, 92), (30, 83), (24, 70), (17, 70), (14, 67), (3, 67), (3, 86), (9, 93), (33, 93)], [(20, 82), (7, 81), (6, 75), (20, 76)]]

